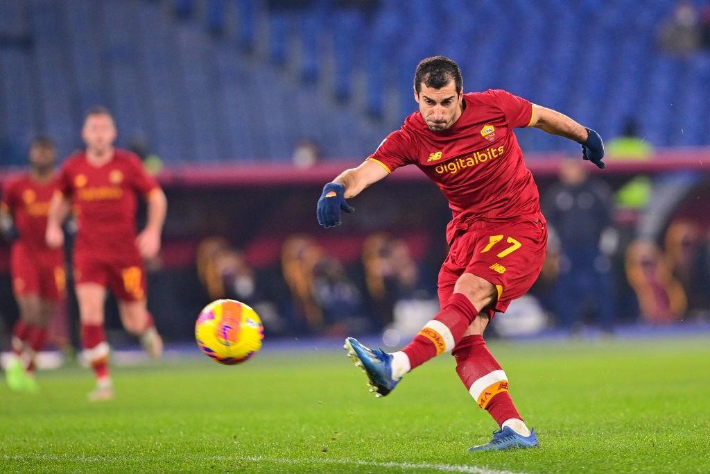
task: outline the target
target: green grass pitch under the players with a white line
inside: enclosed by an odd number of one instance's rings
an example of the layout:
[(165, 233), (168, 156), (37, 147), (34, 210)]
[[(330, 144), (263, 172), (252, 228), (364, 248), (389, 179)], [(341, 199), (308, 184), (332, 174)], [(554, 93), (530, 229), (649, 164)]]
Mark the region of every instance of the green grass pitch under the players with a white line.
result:
[(116, 369), (99, 404), (87, 370), (45, 372), (36, 396), (0, 387), (0, 472), (708, 473), (709, 346), (493, 343), (542, 447), (476, 455), (495, 426), (450, 356), (383, 399), (322, 350)]

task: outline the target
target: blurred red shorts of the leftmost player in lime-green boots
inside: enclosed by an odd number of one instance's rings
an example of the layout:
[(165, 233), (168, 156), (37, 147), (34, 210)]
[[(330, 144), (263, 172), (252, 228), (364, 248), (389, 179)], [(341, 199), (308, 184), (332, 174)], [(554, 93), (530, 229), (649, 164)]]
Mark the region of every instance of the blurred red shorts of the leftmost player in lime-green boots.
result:
[(16, 296), (35, 294), (50, 301), (61, 301), (67, 288), (63, 249), (33, 249), (22, 241), (10, 252), (12, 287)]

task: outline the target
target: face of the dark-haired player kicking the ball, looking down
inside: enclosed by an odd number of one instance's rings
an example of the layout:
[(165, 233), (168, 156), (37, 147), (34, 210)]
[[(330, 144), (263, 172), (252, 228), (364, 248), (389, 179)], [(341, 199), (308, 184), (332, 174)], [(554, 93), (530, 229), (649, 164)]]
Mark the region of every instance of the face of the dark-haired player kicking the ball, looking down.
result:
[(441, 89), (427, 87), (422, 82), (422, 90), (417, 93), (415, 89), (414, 98), (431, 131), (444, 131), (461, 117), (461, 101), (464, 95), (463, 92), (456, 92), (453, 80)]

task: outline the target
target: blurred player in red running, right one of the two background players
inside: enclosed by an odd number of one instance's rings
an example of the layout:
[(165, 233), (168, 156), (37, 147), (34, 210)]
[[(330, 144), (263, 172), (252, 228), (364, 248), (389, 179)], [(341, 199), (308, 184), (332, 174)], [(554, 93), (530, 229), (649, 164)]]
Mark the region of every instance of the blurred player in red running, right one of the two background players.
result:
[[(49, 209), (46, 239), (50, 247), (64, 243), (61, 209), (70, 201), (77, 212), (74, 279), (79, 302), (84, 356), (96, 375), (91, 400), (114, 397), (109, 377), (109, 345), (104, 335), (104, 301), (110, 289), (119, 303), (124, 328), (141, 340), (148, 355), (158, 358), (163, 341), (146, 308), (143, 259), (160, 249), (167, 201), (138, 156), (114, 148), (116, 126), (102, 107), (89, 110), (82, 139), (86, 150), (67, 158), (59, 190)], [(136, 236), (136, 194), (148, 203), (148, 222)]]

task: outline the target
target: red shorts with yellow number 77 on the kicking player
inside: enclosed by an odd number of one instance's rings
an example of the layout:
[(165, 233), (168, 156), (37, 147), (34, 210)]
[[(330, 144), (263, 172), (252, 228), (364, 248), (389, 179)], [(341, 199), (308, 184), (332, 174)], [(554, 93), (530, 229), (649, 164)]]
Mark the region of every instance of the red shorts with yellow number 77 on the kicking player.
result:
[(498, 289), (498, 301), (486, 308), (491, 316), (505, 312), (515, 298), (528, 292), (545, 262), (547, 225), (540, 219), (473, 222), (454, 237), (439, 271), (439, 303), (443, 307), (464, 273), (480, 276)]

